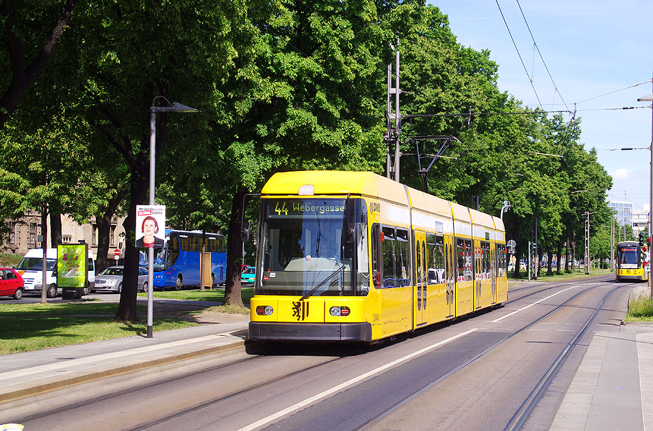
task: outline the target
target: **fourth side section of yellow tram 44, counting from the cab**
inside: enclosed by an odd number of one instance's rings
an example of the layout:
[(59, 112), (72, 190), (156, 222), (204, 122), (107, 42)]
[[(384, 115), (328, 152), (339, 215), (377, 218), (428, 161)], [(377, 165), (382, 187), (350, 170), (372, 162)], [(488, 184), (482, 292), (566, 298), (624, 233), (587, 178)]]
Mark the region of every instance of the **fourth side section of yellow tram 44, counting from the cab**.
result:
[[(494, 241), (494, 221), (492, 216), (475, 209), (470, 209), (472, 216), (472, 238), (474, 239), (474, 256), (476, 258), (476, 274), (478, 280), (475, 282), (478, 287), (478, 295), (474, 296), (474, 309), (482, 309), (496, 304), (496, 244)], [(483, 271), (481, 256), (481, 242), (489, 242), (490, 250), (487, 250), (490, 258), (489, 271)], [(491, 250), (494, 248), (495, 252)], [(492, 265), (492, 257), (495, 264)], [(481, 265), (481, 267), (478, 267)], [(494, 268), (494, 272), (492, 269)]]

